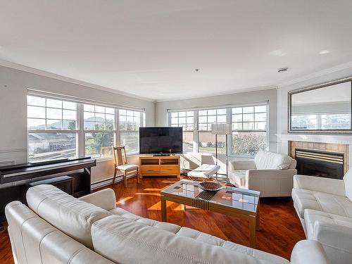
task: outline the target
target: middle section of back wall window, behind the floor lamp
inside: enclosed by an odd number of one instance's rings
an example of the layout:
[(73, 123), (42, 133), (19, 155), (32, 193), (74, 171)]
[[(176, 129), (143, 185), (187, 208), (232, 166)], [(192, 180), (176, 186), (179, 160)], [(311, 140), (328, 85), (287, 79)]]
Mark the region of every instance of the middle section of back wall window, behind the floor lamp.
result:
[(226, 123), (226, 108), (201, 110), (198, 115), (198, 151), (215, 153), (215, 144), (218, 144), (218, 153), (225, 153), (226, 136), (225, 134), (219, 134), (217, 140), (215, 140), (215, 134), (211, 134), (211, 124)]

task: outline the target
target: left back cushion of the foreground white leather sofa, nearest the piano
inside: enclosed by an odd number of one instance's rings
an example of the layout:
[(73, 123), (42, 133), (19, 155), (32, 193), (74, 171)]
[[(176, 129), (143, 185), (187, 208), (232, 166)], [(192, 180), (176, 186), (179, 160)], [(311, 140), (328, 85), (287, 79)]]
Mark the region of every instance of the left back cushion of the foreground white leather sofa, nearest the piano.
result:
[(75, 199), (47, 184), (28, 189), (27, 203), (34, 213), (89, 249), (93, 248), (92, 224), (112, 215), (107, 210)]

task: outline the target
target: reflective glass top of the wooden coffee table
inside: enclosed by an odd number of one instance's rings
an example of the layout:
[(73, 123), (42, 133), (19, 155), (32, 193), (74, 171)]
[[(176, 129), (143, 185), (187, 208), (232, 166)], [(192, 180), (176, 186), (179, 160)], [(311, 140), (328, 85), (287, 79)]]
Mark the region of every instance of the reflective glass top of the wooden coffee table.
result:
[(227, 186), (224, 186), (220, 191), (203, 191), (198, 187), (198, 184), (199, 182), (191, 180), (180, 180), (163, 189), (161, 194), (165, 196), (170, 194), (189, 199), (199, 199), (251, 212), (256, 212), (257, 210), (260, 191)]

